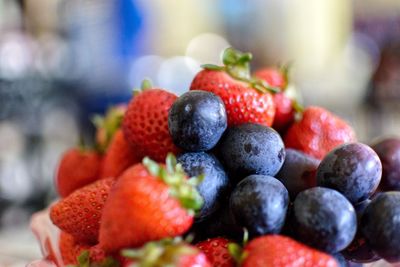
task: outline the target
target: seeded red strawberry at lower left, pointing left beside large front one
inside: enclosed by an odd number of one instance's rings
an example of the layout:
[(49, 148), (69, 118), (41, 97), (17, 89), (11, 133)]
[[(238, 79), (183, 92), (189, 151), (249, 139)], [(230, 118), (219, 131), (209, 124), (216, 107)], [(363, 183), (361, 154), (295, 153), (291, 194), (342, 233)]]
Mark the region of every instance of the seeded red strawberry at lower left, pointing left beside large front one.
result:
[(76, 190), (51, 207), (50, 219), (77, 241), (97, 243), (100, 217), (113, 184), (114, 179), (108, 178)]

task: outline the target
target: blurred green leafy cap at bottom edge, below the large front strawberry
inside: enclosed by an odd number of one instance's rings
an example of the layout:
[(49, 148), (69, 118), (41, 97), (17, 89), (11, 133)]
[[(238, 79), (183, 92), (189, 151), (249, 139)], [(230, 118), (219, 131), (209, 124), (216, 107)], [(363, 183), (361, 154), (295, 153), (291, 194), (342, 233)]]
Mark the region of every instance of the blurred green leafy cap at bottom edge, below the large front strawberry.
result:
[(124, 249), (121, 255), (133, 260), (135, 267), (175, 266), (179, 258), (198, 253), (194, 247), (187, 245), (180, 237), (167, 238), (146, 243), (138, 249)]

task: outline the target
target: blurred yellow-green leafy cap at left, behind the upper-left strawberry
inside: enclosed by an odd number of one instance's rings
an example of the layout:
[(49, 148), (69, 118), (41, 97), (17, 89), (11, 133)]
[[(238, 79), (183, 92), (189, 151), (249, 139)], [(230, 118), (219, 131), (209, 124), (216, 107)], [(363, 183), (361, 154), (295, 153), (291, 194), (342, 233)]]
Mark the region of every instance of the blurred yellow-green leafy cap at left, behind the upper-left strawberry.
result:
[(125, 110), (124, 105), (117, 105), (109, 108), (105, 116), (95, 115), (92, 118), (97, 128), (96, 148), (99, 152), (104, 153), (107, 150), (115, 132), (121, 127)]

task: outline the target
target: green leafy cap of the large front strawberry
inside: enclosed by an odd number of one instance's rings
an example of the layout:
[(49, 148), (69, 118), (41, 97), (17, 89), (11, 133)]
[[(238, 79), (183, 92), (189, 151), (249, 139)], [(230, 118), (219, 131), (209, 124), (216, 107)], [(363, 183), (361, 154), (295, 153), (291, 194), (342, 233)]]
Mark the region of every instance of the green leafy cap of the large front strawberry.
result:
[(193, 215), (202, 207), (204, 201), (196, 186), (204, 179), (203, 175), (187, 179), (182, 165), (176, 162), (172, 153), (168, 153), (165, 167), (148, 157), (143, 159), (143, 165), (151, 175), (169, 186), (170, 195), (178, 199), (189, 214)]

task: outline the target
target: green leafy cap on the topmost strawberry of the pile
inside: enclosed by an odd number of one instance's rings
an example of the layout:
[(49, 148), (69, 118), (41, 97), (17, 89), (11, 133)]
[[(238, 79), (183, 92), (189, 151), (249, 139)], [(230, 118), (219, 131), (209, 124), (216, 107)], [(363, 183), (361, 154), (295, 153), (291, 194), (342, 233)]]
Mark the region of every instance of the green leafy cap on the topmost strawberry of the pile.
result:
[(207, 70), (225, 71), (235, 80), (247, 83), (251, 88), (260, 93), (278, 93), (278, 87), (269, 86), (265, 81), (251, 77), (250, 61), (253, 56), (251, 53), (243, 53), (232, 47), (226, 48), (222, 55), (223, 66), (214, 64), (204, 64), (201, 67)]

